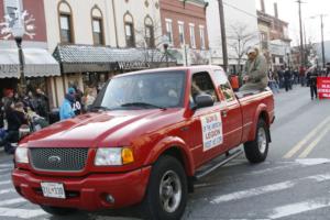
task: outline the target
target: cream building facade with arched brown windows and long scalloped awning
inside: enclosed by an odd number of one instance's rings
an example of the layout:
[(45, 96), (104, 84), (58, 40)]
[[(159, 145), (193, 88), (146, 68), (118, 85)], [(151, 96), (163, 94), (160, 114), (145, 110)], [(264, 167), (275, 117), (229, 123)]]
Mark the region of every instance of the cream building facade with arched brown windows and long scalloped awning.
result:
[(45, 0), (44, 4), (48, 50), (62, 68), (53, 81), (56, 106), (70, 86), (99, 90), (114, 74), (165, 61), (157, 0)]

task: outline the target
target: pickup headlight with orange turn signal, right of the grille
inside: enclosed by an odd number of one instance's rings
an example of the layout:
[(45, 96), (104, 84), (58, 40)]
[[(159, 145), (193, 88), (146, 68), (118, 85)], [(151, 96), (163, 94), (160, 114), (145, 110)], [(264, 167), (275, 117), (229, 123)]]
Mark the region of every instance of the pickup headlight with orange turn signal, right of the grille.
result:
[(97, 150), (96, 166), (120, 166), (134, 162), (133, 151), (129, 147), (102, 147)]

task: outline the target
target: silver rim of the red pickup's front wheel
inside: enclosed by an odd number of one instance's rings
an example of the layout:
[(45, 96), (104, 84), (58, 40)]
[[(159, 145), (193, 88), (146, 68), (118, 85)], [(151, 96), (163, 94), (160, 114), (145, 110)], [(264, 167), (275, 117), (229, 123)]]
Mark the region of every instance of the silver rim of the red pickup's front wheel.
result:
[(182, 201), (183, 190), (182, 182), (178, 175), (173, 172), (166, 172), (160, 185), (161, 205), (166, 212), (174, 212)]

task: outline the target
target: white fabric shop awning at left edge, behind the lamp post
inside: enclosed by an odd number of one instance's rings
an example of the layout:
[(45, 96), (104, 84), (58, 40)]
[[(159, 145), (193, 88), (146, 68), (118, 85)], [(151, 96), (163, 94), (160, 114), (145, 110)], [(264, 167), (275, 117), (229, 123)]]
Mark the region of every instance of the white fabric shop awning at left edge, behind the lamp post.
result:
[[(61, 76), (58, 63), (42, 48), (24, 48), (24, 76), (47, 77)], [(19, 52), (14, 48), (0, 50), (0, 78), (19, 78), (20, 62)]]

